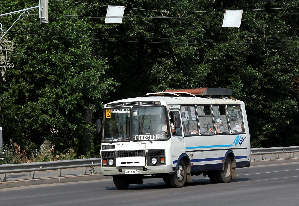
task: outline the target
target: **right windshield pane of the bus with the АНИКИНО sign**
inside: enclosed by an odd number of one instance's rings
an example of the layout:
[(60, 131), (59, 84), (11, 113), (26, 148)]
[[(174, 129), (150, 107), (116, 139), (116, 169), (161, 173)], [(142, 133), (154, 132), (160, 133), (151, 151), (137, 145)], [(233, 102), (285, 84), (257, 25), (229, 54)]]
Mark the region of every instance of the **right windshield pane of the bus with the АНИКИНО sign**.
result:
[(132, 114), (133, 141), (169, 139), (169, 123), (165, 107), (135, 107)]

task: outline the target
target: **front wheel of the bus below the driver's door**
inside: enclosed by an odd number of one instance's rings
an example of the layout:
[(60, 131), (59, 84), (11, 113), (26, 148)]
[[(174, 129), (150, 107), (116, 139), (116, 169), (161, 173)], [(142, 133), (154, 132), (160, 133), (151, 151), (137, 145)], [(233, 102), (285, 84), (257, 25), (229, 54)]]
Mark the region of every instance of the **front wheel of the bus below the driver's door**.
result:
[(187, 180), (187, 169), (183, 160), (179, 161), (176, 172), (169, 176), (170, 185), (173, 188), (184, 187)]

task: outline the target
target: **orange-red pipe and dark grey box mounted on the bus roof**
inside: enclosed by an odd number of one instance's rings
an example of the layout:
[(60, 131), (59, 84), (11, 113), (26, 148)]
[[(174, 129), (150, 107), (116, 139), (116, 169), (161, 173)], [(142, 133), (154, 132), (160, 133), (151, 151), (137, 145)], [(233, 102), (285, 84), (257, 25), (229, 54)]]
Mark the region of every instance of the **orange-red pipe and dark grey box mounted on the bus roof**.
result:
[(165, 93), (190, 93), (195, 96), (231, 96), (232, 89), (229, 88), (197, 88), (181, 90), (165, 90)]

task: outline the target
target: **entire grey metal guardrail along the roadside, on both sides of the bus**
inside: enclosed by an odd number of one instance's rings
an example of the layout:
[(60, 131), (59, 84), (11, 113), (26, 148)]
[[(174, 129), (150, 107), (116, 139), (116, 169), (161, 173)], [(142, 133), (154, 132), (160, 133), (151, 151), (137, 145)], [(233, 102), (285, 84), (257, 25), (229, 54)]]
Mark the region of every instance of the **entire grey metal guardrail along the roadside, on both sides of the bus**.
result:
[[(276, 159), (279, 154), (290, 153), (290, 158), (294, 158), (294, 153), (299, 152), (299, 146), (290, 147), (271, 147), (271, 148), (253, 148), (251, 155), (260, 155), (260, 160), (263, 160), (263, 155), (275, 154)], [(6, 181), (7, 173), (30, 172), (30, 179), (34, 179), (35, 172), (57, 170), (57, 177), (61, 176), (61, 169), (70, 169), (82, 167), (82, 175), (86, 175), (86, 167), (101, 166), (101, 158), (80, 159), (80, 160), (62, 160), (52, 162), (32, 162), (21, 164), (1, 164), (0, 174), (1, 181)]]

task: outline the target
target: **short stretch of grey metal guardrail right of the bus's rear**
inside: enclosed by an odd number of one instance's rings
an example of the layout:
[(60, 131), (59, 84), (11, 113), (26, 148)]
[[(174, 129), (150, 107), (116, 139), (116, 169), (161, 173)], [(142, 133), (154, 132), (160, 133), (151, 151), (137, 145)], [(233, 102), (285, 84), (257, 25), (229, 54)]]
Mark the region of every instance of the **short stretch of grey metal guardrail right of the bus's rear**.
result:
[(260, 160), (264, 160), (263, 155), (275, 154), (275, 159), (279, 158), (279, 154), (290, 153), (290, 158), (294, 158), (294, 153), (299, 152), (299, 146), (289, 147), (269, 147), (269, 148), (252, 148), (251, 155), (260, 155)]

